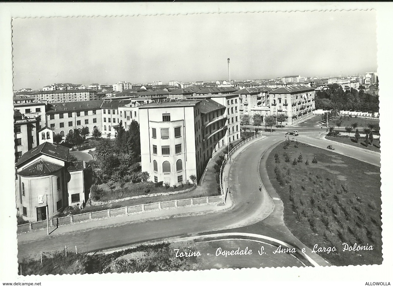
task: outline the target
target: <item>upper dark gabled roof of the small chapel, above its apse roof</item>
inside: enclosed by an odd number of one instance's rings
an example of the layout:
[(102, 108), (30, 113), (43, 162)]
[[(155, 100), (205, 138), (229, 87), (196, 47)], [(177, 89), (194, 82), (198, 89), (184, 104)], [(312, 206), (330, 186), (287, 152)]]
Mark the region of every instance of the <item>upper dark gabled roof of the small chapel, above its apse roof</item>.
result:
[(29, 159), (39, 156), (40, 154), (44, 154), (53, 158), (60, 159), (62, 161), (68, 161), (68, 152), (70, 151), (69, 148), (64, 147), (62, 145), (55, 145), (49, 142), (44, 142), (41, 145), (30, 149), (22, 157), (19, 158), (16, 166), (20, 166)]

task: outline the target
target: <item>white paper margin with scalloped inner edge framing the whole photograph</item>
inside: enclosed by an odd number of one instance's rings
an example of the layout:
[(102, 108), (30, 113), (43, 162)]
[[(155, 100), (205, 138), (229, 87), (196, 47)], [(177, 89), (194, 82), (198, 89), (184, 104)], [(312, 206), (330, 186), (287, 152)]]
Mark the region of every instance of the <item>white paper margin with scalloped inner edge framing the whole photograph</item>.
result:
[[(380, 119), (382, 141), (382, 222), (383, 222), (383, 257), (382, 266), (347, 266), (329, 268), (264, 268), (242, 270), (206, 270), (206, 271), (177, 271), (158, 273), (105, 274), (105, 275), (62, 275), (44, 277), (23, 277), (16, 275), (16, 226), (11, 216), (15, 215), (13, 204), (14, 182), (13, 168), (0, 164), (0, 183), (2, 185), (0, 199), (0, 282), (42, 281), (42, 285), (69, 283), (68, 281), (83, 281), (92, 284), (107, 284), (105, 281), (292, 281), (291, 284), (331, 284), (329, 281), (352, 281), (351, 284), (365, 285), (365, 282), (388, 282), (391, 280), (393, 266), (391, 246), (392, 222), (392, 183), (389, 181), (392, 151), (389, 148), (389, 106), (393, 106), (393, 94), (389, 83), (392, 82), (393, 45), (391, 40), (392, 3), (0, 3), (0, 116), (2, 133), (13, 134), (12, 130), (12, 48), (11, 48), (11, 18), (51, 17), (51, 16), (108, 16), (108, 15), (187, 15), (195, 13), (247, 13), (261, 11), (332, 11), (332, 10), (368, 10), (377, 11), (378, 38), (378, 73), (380, 80)], [(3, 136), (2, 136), (3, 137)], [(12, 140), (2, 140), (0, 160), (13, 161)], [(390, 280), (389, 280), (390, 279)], [(48, 281), (48, 282), (44, 282)], [(91, 281), (89, 283), (89, 281)], [(356, 281), (356, 283), (354, 283)], [(348, 284), (346, 282), (345, 284)], [(124, 282), (123, 282), (124, 283)], [(161, 282), (160, 282), (161, 283)], [(182, 283), (184, 284), (184, 283)], [(188, 284), (195, 284), (188, 283)], [(198, 283), (199, 284), (199, 283)], [(287, 283), (283, 283), (285, 285)], [(340, 284), (340, 283), (338, 283)]]

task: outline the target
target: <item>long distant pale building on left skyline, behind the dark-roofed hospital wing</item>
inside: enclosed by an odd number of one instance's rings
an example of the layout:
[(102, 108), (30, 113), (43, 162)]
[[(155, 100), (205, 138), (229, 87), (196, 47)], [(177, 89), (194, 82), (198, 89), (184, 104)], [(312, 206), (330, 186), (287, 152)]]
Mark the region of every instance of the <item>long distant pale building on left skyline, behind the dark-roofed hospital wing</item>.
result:
[(72, 101), (89, 101), (97, 99), (97, 92), (92, 89), (75, 90), (39, 90), (30, 92), (30, 97), (43, 103), (65, 103)]

